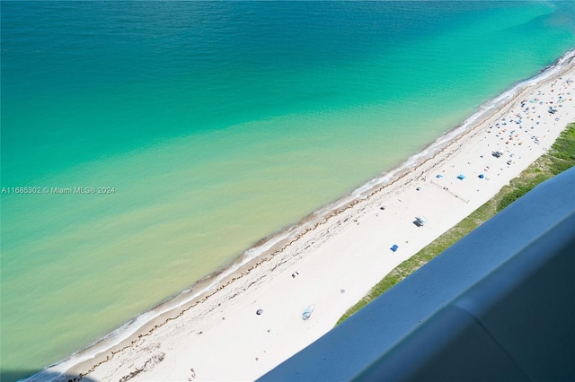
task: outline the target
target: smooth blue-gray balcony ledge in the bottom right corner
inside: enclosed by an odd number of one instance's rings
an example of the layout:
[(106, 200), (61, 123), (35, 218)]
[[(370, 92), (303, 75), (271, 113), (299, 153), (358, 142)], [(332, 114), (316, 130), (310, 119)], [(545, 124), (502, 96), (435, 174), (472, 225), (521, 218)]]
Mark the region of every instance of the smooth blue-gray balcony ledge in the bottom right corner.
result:
[(575, 168), (260, 381), (575, 380)]

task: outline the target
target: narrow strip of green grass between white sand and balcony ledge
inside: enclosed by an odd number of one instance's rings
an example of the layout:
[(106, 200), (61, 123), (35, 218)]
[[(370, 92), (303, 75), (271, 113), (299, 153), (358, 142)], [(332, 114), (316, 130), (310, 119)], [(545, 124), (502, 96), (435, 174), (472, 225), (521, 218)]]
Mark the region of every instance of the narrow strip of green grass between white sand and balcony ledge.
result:
[(533, 162), (517, 178), (511, 180), (508, 186), (501, 188), (500, 192), (493, 196), (489, 202), (483, 204), (469, 216), (464, 218), (435, 241), (424, 247), (414, 256), (405, 260), (394, 270), (388, 273), (367, 295), (358, 301), (356, 305), (339, 319), (336, 326), (340, 325), (348, 317), (375, 300), (385, 291), (389, 290), (405, 277), (417, 271), (421, 265), (425, 265), (433, 257), (451, 247), (457, 240), (475, 230), (483, 222), (488, 221), (493, 215), (499, 213), (509, 204), (525, 195), (539, 183), (553, 178), (566, 169), (575, 166), (575, 123), (568, 125), (557, 138), (549, 152), (545, 153), (537, 161)]

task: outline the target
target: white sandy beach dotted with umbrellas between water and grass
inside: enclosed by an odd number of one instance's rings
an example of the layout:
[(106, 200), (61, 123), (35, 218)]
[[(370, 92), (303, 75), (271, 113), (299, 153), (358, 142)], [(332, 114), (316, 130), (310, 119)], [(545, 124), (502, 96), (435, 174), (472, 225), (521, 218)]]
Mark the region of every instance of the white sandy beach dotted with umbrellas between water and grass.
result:
[(52, 371), (98, 381), (261, 377), (331, 330), (386, 273), (488, 201), (575, 121), (575, 52), (518, 86), (392, 177), (306, 218), (201, 296)]

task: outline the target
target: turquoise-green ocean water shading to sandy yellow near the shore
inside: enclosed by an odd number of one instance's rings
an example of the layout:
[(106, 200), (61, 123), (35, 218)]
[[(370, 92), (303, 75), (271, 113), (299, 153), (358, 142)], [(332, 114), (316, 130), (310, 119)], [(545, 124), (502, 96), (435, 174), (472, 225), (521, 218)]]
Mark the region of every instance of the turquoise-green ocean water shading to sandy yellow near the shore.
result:
[(225, 268), (575, 47), (572, 2), (0, 6), (3, 380)]

